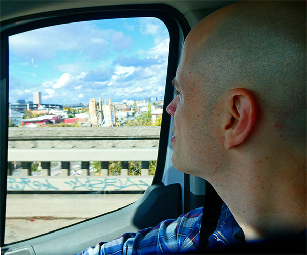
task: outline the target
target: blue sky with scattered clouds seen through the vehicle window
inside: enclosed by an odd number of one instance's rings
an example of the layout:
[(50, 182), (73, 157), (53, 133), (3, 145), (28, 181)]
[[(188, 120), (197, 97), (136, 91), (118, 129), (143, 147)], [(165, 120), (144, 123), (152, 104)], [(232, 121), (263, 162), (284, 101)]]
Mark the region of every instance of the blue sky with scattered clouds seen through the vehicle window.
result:
[(9, 37), (9, 102), (164, 95), (169, 34), (157, 18), (82, 21)]

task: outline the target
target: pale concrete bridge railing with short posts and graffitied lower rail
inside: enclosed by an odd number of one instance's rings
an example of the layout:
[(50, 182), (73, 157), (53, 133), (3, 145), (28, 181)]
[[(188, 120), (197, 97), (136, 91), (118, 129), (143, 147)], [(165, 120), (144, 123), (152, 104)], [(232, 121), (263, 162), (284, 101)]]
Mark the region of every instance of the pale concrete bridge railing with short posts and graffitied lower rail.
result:
[[(152, 182), (150, 161), (157, 160), (158, 148), (31, 148), (8, 150), (8, 191), (122, 191), (146, 190)], [(80, 175), (71, 174), (71, 164), (81, 162)], [(96, 175), (90, 168), (100, 161)], [(120, 161), (120, 175), (109, 175), (109, 162)], [(129, 175), (129, 161), (141, 161), (141, 176)], [(20, 175), (13, 175), (14, 162), (21, 162)], [(40, 162), (40, 174), (33, 175), (31, 165)], [(53, 176), (52, 162), (61, 162), (60, 175)]]

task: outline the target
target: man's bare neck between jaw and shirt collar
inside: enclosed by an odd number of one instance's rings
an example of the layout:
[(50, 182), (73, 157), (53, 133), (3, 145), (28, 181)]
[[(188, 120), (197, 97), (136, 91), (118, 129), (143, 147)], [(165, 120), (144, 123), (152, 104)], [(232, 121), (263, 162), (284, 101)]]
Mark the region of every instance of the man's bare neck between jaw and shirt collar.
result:
[(238, 171), (231, 171), (235, 174), (226, 177), (227, 189), (213, 183), (245, 239), (268, 239), (281, 233), (295, 235), (306, 229), (305, 171), (283, 165), (265, 172), (251, 166), (242, 165)]

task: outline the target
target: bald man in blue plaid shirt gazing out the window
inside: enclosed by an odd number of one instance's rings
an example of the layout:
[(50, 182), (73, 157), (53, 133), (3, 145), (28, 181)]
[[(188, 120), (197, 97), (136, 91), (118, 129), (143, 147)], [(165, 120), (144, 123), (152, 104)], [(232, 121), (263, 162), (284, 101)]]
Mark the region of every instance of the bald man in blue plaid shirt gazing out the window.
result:
[[(237, 2), (207, 16), (189, 33), (173, 83), (172, 163), (227, 205), (209, 246), (305, 240), (305, 2)], [(84, 254), (193, 252), (201, 221), (198, 208)]]

